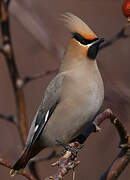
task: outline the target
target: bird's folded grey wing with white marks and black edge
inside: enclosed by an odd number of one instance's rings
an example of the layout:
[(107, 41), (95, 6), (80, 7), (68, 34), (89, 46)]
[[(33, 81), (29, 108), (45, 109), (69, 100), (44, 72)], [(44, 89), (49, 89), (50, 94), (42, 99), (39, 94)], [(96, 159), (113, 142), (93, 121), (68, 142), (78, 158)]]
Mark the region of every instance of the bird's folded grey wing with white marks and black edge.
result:
[(56, 105), (60, 101), (63, 79), (64, 73), (59, 73), (48, 85), (41, 105), (32, 122), (26, 142), (26, 147), (31, 147), (35, 143), (45, 128), (51, 114), (55, 110)]

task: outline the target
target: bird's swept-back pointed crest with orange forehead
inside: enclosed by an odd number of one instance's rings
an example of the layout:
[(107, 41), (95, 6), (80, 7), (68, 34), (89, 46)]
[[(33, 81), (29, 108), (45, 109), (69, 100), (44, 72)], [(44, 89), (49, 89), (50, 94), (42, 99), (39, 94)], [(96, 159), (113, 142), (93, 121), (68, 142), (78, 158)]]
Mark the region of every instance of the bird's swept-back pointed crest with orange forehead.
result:
[(63, 21), (71, 33), (78, 33), (86, 39), (96, 38), (96, 34), (79, 17), (71, 14), (63, 14)]

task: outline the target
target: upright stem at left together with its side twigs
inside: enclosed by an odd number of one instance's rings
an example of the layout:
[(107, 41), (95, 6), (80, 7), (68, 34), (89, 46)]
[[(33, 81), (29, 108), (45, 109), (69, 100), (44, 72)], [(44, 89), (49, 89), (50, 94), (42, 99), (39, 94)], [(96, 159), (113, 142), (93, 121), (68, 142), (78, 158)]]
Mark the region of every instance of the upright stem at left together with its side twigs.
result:
[[(26, 114), (25, 114), (25, 102), (24, 102), (24, 94), (23, 94), (23, 87), (28, 82), (31, 82), (32, 80), (36, 80), (38, 78), (41, 78), (45, 75), (49, 75), (51, 73), (55, 73), (57, 69), (54, 70), (47, 70), (43, 71), (41, 73), (37, 73), (35, 75), (32, 75), (30, 77), (26, 77), (22, 79), (19, 75), (15, 56), (13, 52), (13, 47), (11, 43), (11, 36), (10, 36), (10, 24), (9, 24), (9, 17), (8, 17), (8, 5), (10, 1), (4, 1), (2, 0), (0, 2), (0, 20), (1, 20), (1, 29), (2, 29), (2, 38), (3, 38), (3, 46), (0, 48), (0, 52), (5, 56), (6, 63), (9, 69), (10, 78), (13, 84), (14, 88), (14, 94), (16, 98), (16, 104), (17, 104), (17, 121), (16, 126), (18, 127), (18, 130), (20, 132), (20, 137), (23, 145), (26, 142), (27, 137), (27, 124), (26, 124)], [(8, 121), (14, 122), (11, 116), (4, 116), (1, 114), (1, 118), (4, 118)], [(36, 177), (36, 179), (39, 179), (37, 171), (36, 171), (36, 162), (32, 162), (30, 166), (31, 173)]]

